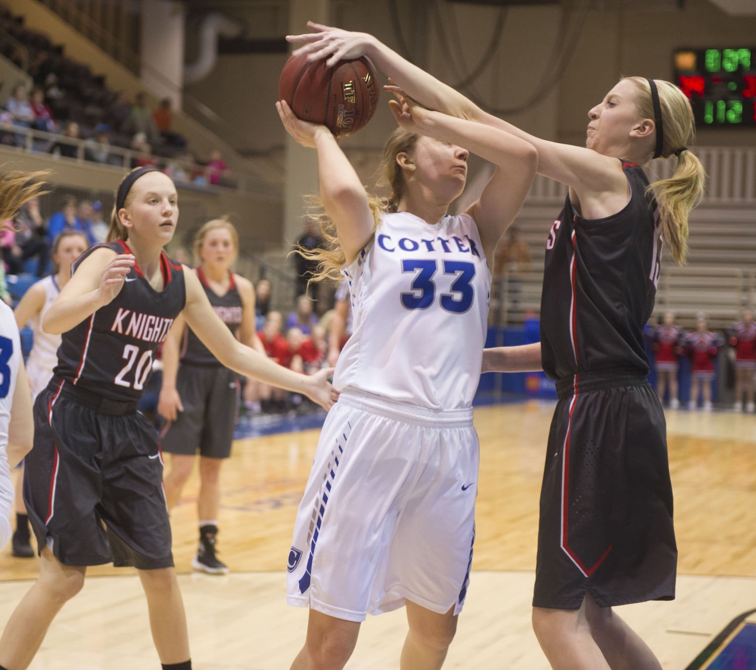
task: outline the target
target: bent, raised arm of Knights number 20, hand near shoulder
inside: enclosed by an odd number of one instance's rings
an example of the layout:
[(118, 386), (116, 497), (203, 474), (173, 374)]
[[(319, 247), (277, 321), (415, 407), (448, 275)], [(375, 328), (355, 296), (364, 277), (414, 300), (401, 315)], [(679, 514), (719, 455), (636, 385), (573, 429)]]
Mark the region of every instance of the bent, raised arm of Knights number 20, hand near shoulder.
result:
[(42, 330), (60, 335), (107, 305), (118, 295), (134, 263), (131, 254), (116, 254), (107, 247), (95, 249), (60, 290), (42, 320)]

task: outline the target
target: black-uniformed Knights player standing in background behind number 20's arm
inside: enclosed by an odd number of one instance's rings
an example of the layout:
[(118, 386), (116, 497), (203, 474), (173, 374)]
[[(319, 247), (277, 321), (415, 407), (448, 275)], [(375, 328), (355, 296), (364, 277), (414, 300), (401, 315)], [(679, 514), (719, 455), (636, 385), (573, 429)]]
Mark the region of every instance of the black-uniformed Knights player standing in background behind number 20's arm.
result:
[[(200, 262), (197, 277), (213, 311), (234, 337), (264, 355), (255, 332), (255, 289), (249, 280), (231, 272), (238, 250), (237, 231), (231, 222), (207, 222), (194, 240), (194, 256)], [(192, 567), (210, 573), (228, 572), (216, 554), (219, 479), (222, 464), (231, 454), (238, 405), (237, 374), (225, 368), (179, 318), (163, 346), (163, 386), (158, 402), (158, 411), (168, 420), (161, 433), (163, 451), (172, 454), (165, 478), (166, 498), (172, 509), (199, 450), (200, 544)]]

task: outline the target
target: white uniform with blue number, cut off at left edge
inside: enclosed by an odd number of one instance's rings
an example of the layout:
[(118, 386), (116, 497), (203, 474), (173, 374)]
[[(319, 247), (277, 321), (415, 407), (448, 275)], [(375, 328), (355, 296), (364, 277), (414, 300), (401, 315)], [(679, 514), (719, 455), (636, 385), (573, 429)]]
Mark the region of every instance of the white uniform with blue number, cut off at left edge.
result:
[(20, 361), (21, 340), (13, 311), (5, 302), (0, 302), (0, 550), (8, 544), (12, 533), (13, 483), (8, 464), (8, 427)]

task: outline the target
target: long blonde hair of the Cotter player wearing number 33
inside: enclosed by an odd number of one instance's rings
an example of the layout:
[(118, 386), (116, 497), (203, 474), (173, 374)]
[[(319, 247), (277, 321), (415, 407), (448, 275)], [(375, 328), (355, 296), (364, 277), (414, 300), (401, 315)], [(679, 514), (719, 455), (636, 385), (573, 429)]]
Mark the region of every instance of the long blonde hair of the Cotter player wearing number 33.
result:
[[(380, 225), (380, 220), (383, 217), (384, 212), (396, 211), (401, 198), (404, 196), (404, 191), (406, 191), (407, 185), (404, 181), (404, 174), (401, 171), (401, 167), (396, 162), (396, 157), (399, 154), (406, 154), (413, 150), (418, 139), (420, 139), (420, 135), (397, 128), (391, 135), (389, 135), (389, 139), (386, 140), (386, 144), (383, 147), (383, 155), (381, 156), (380, 164), (376, 170), (379, 174), (376, 183), (379, 186), (389, 186), (391, 188), (391, 195), (385, 198), (373, 194), (367, 194), (370, 211), (373, 212), (373, 230)], [(298, 245), (294, 253), (299, 253), (299, 255), (304, 256), (305, 259), (318, 262), (318, 271), (314, 273), (309, 281), (323, 281), (329, 279), (339, 281), (342, 278), (341, 268), (346, 262), (346, 256), (344, 250), (342, 250), (341, 245), (339, 244), (339, 237), (336, 234), (336, 225), (334, 225), (333, 221), (331, 221), (323, 211), (323, 203), (320, 197), (305, 197), (305, 203), (307, 203), (308, 209), (312, 210), (308, 211), (308, 216), (313, 221), (318, 222), (318, 225), (320, 226), (321, 235), (324, 237), (324, 240), (326, 240), (326, 246), (321, 249), (306, 249), (305, 247)]]

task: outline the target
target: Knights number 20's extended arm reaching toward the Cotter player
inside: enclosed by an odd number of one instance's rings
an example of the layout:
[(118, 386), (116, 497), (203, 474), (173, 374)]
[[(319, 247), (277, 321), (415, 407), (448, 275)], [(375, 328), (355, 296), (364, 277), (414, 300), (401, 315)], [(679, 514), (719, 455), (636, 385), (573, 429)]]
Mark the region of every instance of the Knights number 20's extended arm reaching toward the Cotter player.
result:
[(184, 278), (187, 302), (181, 315), (194, 330), (194, 334), (226, 368), (231, 368), (245, 377), (254, 377), (271, 386), (303, 393), (326, 409), (336, 402), (338, 394), (327, 379), (333, 374), (333, 369), (321, 370), (311, 376), (298, 374), (243, 345), (212, 311), (197, 275), (184, 268)]

